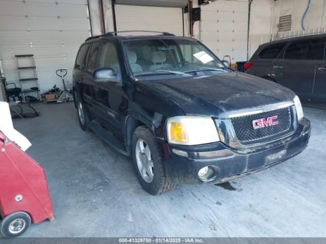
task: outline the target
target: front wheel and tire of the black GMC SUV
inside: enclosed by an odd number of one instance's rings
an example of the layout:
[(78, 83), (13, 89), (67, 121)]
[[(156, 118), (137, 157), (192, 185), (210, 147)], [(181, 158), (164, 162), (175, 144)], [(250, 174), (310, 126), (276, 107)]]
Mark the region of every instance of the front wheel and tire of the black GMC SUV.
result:
[(138, 127), (133, 133), (132, 161), (140, 184), (148, 193), (160, 195), (175, 188), (165, 174), (156, 138), (146, 126)]

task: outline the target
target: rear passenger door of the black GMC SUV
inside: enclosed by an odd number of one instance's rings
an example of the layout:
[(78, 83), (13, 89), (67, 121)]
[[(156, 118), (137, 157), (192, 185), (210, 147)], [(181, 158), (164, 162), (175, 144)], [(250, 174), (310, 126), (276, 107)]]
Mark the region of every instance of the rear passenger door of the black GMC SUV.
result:
[(96, 116), (96, 107), (94, 106), (94, 81), (92, 72), (96, 67), (96, 58), (100, 42), (91, 43), (85, 59), (85, 78), (83, 82), (83, 98), (88, 105), (89, 110)]

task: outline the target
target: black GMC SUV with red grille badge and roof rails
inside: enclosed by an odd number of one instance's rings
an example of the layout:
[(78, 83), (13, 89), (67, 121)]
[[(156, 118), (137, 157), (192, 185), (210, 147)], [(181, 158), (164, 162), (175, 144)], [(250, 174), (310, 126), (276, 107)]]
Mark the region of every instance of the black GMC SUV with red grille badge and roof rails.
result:
[(73, 95), (82, 129), (132, 156), (153, 195), (266, 169), (310, 137), (291, 90), (233, 72), (199, 41), (168, 33), (88, 38)]

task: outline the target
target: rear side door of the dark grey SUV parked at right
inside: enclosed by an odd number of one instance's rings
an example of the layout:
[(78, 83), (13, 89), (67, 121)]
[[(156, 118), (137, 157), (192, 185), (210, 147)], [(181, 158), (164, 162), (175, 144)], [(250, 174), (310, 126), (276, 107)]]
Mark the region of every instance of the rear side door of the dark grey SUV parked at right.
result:
[(302, 98), (311, 97), (317, 65), (315, 49), (318, 47), (318, 39), (291, 41), (281, 58), (273, 62), (273, 78), (276, 82)]

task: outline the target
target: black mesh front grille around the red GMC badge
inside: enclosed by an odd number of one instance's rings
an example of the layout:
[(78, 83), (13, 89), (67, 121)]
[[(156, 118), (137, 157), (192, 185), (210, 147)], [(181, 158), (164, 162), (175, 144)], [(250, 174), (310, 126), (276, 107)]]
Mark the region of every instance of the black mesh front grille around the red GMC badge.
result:
[[(253, 120), (272, 117), (277, 115), (278, 125), (266, 126), (254, 129)], [(290, 107), (272, 110), (263, 113), (245, 115), (231, 118), (235, 135), (240, 142), (249, 142), (274, 136), (288, 131), (291, 127)]]

